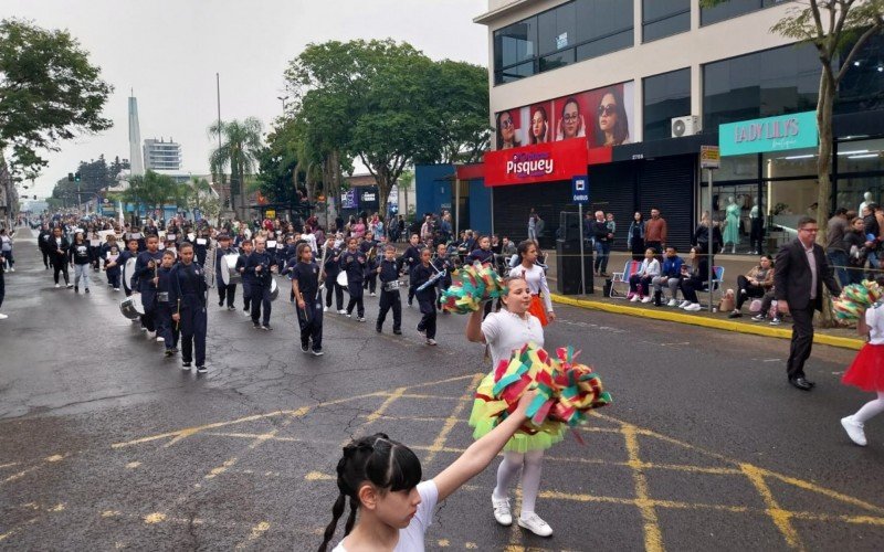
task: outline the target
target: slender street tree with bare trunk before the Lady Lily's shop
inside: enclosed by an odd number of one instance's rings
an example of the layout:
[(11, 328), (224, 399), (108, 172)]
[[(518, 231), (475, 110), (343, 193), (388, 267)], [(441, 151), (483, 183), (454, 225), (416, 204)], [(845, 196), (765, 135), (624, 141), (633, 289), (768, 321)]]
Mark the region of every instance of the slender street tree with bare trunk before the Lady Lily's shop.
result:
[[(729, 0), (701, 0), (711, 7)], [(884, 31), (884, 0), (807, 0), (790, 8), (771, 32), (813, 44), (819, 55), (820, 92), (817, 99), (817, 127), (820, 145), (817, 156), (817, 243), (825, 246), (832, 182), (832, 115), (838, 86), (852, 66), (853, 59), (869, 39)], [(832, 323), (829, 301), (823, 301), (823, 322)]]

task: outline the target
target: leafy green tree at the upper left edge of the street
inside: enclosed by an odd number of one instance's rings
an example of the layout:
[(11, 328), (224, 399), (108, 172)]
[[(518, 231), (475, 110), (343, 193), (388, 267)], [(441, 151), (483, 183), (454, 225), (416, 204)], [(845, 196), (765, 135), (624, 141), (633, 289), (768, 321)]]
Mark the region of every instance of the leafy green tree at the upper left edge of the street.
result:
[(46, 166), (41, 150), (110, 128), (101, 112), (112, 91), (67, 31), (0, 21), (0, 151), (13, 173), (33, 178)]

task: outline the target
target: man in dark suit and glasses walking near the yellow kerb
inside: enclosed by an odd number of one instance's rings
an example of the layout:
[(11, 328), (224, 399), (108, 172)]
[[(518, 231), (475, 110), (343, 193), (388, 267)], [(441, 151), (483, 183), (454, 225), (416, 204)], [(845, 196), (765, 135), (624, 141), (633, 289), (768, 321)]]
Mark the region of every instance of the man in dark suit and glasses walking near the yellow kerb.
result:
[(832, 295), (841, 294), (825, 252), (815, 242), (819, 226), (810, 216), (798, 221), (798, 238), (777, 253), (774, 293), (780, 312), (791, 312), (792, 344), (786, 373), (789, 383), (802, 391), (813, 389), (804, 376), (804, 361), (813, 346), (813, 311), (822, 310), (822, 285)]

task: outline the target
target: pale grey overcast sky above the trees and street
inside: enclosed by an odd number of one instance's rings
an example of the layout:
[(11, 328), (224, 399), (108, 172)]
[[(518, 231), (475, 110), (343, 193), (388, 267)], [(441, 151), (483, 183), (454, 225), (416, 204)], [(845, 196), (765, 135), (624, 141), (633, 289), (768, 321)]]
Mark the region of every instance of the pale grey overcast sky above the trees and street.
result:
[(2, 0), (0, 19), (67, 29), (114, 86), (105, 105), (114, 127), (49, 155), (36, 180), (42, 198), (81, 159), (129, 157), (129, 89), (138, 98), (141, 140), (173, 138), (182, 169), (204, 174), (215, 73), (221, 118), (255, 116), (269, 129), (282, 112), (283, 71), (306, 44), (392, 38), (433, 60), (487, 66), (486, 28), (472, 22), (486, 9), (487, 0)]

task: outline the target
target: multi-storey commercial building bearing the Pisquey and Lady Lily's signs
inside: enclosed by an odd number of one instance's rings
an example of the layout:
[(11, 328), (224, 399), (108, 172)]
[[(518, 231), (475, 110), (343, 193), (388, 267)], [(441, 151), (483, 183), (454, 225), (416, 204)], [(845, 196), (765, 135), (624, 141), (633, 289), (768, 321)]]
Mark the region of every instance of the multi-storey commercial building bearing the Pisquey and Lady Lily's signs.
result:
[[(724, 125), (767, 136), (750, 148), (726, 148), (712, 187), (713, 216), (732, 226), (737, 252), (787, 240), (817, 202), (817, 148), (804, 138), (815, 132), (808, 114), (821, 72), (812, 46), (770, 32), (790, 4), (490, 0), (474, 21), (488, 28), (496, 140), (484, 174), (494, 231), (526, 235), (534, 208), (551, 237), (560, 213), (577, 210), (570, 180), (582, 173), (589, 209), (618, 221), (617, 245), (625, 245), (635, 212), (646, 219), (657, 208), (670, 243), (686, 247), (709, 204), (701, 146), (753, 141), (748, 134), (722, 136)], [(865, 192), (884, 200), (882, 36), (853, 60), (835, 113), (829, 206), (856, 210)], [(759, 231), (764, 238), (750, 244)]]

